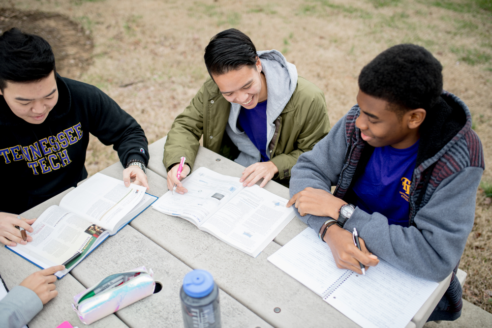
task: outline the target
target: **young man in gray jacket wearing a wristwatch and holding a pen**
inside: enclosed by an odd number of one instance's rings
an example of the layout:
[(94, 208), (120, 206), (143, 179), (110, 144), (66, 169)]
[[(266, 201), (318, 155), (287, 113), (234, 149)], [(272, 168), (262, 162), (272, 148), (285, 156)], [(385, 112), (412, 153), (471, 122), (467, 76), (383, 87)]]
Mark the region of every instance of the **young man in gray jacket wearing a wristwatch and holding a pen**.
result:
[(362, 273), (359, 262), (376, 266), (377, 255), (432, 281), (453, 272), (429, 321), (461, 315), (455, 273), (484, 171), (468, 107), (442, 90), (441, 71), (429, 51), (412, 44), (366, 65), (358, 104), (292, 169), (287, 204), (328, 243), (338, 268)]

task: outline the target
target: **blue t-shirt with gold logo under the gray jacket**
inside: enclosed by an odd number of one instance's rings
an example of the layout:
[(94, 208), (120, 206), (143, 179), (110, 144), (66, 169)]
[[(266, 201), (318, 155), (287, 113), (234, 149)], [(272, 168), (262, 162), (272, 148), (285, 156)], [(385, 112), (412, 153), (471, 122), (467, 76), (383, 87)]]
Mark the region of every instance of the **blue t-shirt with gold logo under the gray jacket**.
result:
[(408, 198), (418, 149), (418, 141), (405, 149), (375, 148), (364, 173), (354, 184), (354, 205), (369, 214), (383, 214), (388, 224), (408, 227)]

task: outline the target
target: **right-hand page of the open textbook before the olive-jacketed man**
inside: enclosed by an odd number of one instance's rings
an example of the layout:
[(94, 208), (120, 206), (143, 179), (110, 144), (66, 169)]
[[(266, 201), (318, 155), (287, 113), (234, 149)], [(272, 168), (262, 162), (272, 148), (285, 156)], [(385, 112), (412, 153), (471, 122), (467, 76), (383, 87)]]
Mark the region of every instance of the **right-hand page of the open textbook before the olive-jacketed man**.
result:
[(256, 257), (294, 218), (287, 202), (255, 184), (242, 189), (200, 229)]

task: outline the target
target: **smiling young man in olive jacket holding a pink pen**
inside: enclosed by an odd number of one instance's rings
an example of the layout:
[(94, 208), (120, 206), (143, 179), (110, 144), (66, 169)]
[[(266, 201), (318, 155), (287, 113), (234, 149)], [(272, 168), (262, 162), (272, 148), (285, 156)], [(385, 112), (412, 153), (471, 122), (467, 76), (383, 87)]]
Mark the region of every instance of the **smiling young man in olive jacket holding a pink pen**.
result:
[(297, 158), (330, 130), (323, 92), (302, 77), (277, 50), (256, 52), (243, 32), (225, 30), (205, 48), (210, 78), (175, 120), (164, 146), (167, 184), (184, 194), (184, 178), (203, 146), (246, 167), (240, 179), (288, 182)]

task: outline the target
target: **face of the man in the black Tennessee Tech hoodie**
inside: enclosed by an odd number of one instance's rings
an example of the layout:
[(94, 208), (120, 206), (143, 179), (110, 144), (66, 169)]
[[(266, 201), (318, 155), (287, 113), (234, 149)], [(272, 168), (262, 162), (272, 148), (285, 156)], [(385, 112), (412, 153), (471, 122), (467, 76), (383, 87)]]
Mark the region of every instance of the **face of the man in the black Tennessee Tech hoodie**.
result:
[(55, 73), (37, 82), (12, 83), (1, 92), (12, 112), (31, 124), (41, 124), (58, 101)]

